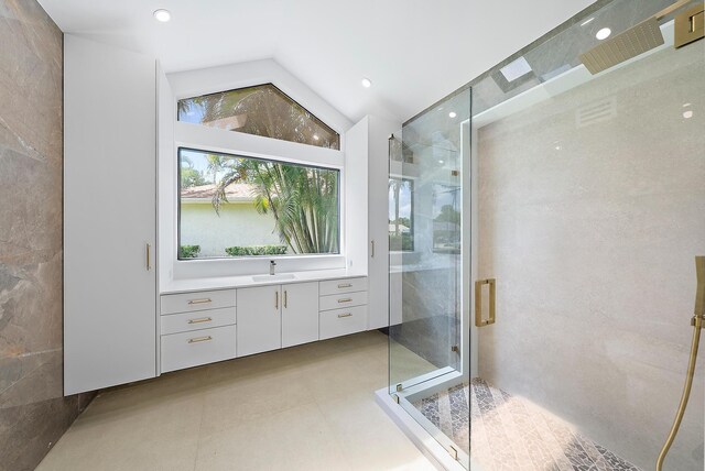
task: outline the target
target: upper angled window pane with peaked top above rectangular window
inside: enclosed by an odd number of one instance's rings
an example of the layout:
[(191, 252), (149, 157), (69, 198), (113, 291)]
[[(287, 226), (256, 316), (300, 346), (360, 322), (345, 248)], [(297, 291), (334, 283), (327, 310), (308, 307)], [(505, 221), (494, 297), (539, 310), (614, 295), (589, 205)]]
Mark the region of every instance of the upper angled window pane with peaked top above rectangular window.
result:
[(340, 135), (272, 84), (178, 100), (178, 121), (340, 149)]

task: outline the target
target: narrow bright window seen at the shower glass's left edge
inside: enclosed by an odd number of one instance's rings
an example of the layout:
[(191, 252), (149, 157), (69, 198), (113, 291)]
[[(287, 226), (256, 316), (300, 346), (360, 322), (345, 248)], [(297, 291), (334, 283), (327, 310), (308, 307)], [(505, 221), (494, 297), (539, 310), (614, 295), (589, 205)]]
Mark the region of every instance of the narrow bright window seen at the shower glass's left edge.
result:
[(413, 221), (414, 182), (408, 178), (389, 178), (389, 250), (414, 250)]

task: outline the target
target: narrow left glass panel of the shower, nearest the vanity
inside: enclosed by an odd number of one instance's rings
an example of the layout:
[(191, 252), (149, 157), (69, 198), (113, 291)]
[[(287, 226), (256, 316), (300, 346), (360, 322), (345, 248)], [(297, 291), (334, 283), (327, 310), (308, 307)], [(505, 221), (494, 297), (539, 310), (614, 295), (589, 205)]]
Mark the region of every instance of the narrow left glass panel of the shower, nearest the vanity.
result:
[(389, 146), (390, 394), (466, 467), (469, 118), (465, 88), (406, 122)]

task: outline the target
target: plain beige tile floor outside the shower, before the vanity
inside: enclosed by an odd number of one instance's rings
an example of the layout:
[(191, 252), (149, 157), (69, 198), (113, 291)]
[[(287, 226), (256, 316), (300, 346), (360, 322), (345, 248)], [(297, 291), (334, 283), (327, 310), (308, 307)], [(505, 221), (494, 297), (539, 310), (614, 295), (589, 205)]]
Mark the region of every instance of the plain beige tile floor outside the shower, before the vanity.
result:
[(110, 390), (37, 470), (431, 471), (375, 403), (387, 359), (372, 331)]

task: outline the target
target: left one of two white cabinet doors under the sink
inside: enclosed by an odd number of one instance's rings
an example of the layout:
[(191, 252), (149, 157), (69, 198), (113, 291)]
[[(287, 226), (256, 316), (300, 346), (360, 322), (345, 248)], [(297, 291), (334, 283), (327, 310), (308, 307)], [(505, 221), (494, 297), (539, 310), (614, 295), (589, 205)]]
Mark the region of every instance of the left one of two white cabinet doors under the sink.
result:
[(282, 348), (281, 286), (238, 289), (238, 357)]

